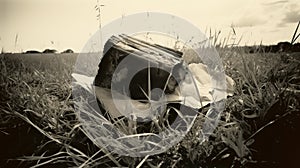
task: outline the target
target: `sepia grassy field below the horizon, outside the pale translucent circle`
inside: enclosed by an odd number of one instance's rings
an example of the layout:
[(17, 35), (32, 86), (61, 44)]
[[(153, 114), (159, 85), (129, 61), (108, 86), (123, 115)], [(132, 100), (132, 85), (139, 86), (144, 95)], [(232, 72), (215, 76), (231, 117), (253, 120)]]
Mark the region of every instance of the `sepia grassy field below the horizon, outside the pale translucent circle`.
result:
[(82, 132), (77, 54), (0, 55), (0, 167), (297, 167), (300, 53), (219, 53), (236, 86), (214, 134), (199, 141), (199, 114), (182, 142), (145, 158), (99, 149)]

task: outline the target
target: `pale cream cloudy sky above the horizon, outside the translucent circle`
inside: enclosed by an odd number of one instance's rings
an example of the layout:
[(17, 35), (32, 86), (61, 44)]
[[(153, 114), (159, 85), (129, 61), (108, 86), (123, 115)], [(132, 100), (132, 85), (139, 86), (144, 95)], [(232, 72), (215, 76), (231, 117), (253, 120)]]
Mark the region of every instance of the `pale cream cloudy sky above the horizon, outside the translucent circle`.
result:
[[(300, 20), (298, 1), (100, 0), (101, 23), (139, 12), (164, 12), (203, 32), (221, 31), (221, 38), (234, 27), (241, 45), (276, 44), (291, 40)], [(45, 48), (80, 52), (98, 30), (96, 4), (96, 0), (0, 0), (0, 47), (11, 52)]]

